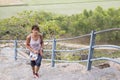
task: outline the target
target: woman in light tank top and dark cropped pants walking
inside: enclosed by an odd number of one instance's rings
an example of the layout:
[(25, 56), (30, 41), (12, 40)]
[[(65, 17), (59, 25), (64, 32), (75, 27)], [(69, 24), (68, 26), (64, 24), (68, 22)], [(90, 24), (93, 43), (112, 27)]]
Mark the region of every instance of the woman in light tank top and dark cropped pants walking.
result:
[(40, 30), (37, 25), (33, 25), (31, 30), (32, 32), (26, 38), (26, 47), (30, 50), (33, 75), (35, 78), (38, 78), (43, 55), (43, 38), (39, 34)]

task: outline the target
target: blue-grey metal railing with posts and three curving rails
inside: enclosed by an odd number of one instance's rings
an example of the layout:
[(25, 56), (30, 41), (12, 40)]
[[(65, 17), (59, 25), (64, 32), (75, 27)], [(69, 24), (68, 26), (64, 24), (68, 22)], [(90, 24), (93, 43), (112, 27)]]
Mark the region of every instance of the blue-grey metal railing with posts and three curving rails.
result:
[[(71, 63), (78, 63), (78, 62), (88, 62), (88, 69), (87, 70), (90, 70), (91, 69), (91, 63), (92, 61), (95, 61), (95, 60), (109, 60), (109, 61), (113, 61), (113, 62), (116, 62), (118, 64), (120, 64), (120, 61), (116, 61), (114, 59), (111, 59), (111, 58), (106, 58), (106, 57), (101, 57), (101, 58), (92, 58), (93, 56), (93, 51), (94, 49), (96, 48), (101, 48), (101, 47), (107, 47), (107, 49), (117, 49), (117, 50), (120, 50), (120, 46), (118, 45), (94, 45), (94, 41), (95, 41), (95, 35), (96, 34), (101, 34), (101, 33), (104, 33), (104, 32), (110, 32), (110, 31), (119, 31), (120, 28), (112, 28), (112, 29), (106, 29), (106, 30), (102, 30), (102, 31), (97, 31), (97, 32), (94, 32), (92, 31), (92, 33), (90, 34), (86, 34), (86, 35), (82, 35), (82, 36), (77, 36), (77, 37), (73, 37), (73, 38), (63, 38), (63, 39), (53, 39), (53, 40), (44, 40), (46, 42), (53, 42), (53, 45), (52, 45), (52, 50), (44, 50), (44, 51), (51, 51), (52, 52), (52, 60), (51, 59), (44, 59), (44, 60), (47, 60), (47, 61), (51, 61), (52, 62), (52, 66), (54, 67), (54, 64), (55, 62), (71, 62)], [(93, 39), (91, 39), (90, 41), (90, 45), (89, 47), (86, 47), (86, 48), (79, 48), (79, 49), (74, 49), (74, 50), (56, 50), (56, 42), (59, 42), (59, 41), (64, 41), (64, 40), (73, 40), (73, 39), (77, 39), (77, 38), (82, 38), (82, 37), (87, 37), (87, 36), (91, 36), (91, 38), (93, 37)], [(14, 44), (16, 44), (17, 42), (20, 42), (20, 41), (16, 41), (16, 40), (0, 40), (0, 42), (14, 42)], [(17, 45), (15, 45), (16, 47)], [(17, 47), (16, 47), (17, 48)], [(15, 59), (17, 58), (16, 54), (17, 54), (17, 51), (16, 51), (16, 48), (14, 49), (15, 50)], [(21, 50), (21, 49), (17, 49), (17, 50)], [(88, 58), (87, 60), (80, 60), (80, 61), (66, 61), (66, 60), (55, 60), (55, 53), (56, 52), (76, 52), (76, 51), (82, 51), (82, 50), (89, 50), (89, 55), (88, 55)]]

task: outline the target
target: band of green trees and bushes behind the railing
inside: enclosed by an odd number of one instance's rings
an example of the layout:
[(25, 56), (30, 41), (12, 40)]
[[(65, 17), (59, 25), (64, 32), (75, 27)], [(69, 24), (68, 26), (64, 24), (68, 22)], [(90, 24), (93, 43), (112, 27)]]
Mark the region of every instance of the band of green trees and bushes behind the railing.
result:
[[(44, 11), (23, 11), (10, 18), (0, 20), (0, 39), (25, 39), (31, 26), (37, 24), (44, 38), (73, 37), (92, 30), (120, 28), (120, 8), (104, 10), (98, 6), (94, 11), (84, 10), (80, 14), (59, 15)], [(109, 32), (97, 36), (100, 42), (119, 42), (120, 32)]]

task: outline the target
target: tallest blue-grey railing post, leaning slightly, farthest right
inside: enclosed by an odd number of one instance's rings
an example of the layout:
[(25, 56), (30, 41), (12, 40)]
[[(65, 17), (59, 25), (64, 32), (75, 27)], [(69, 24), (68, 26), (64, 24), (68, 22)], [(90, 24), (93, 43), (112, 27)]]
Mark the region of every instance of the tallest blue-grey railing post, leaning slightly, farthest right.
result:
[(95, 31), (91, 32), (91, 38), (90, 38), (90, 48), (89, 48), (89, 54), (88, 54), (88, 62), (87, 62), (87, 70), (91, 70), (91, 66), (92, 66), (92, 57), (93, 57), (93, 53), (94, 53), (94, 48), (93, 46), (95, 45)]

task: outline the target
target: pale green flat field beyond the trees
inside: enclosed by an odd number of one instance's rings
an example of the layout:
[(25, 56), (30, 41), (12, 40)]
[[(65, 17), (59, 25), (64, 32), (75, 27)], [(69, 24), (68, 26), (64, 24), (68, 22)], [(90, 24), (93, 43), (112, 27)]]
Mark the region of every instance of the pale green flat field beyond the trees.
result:
[(120, 0), (23, 0), (23, 2), (28, 5), (0, 7), (0, 18), (16, 15), (23, 10), (72, 15), (82, 12), (84, 9), (94, 10), (97, 6), (104, 9), (120, 8)]

